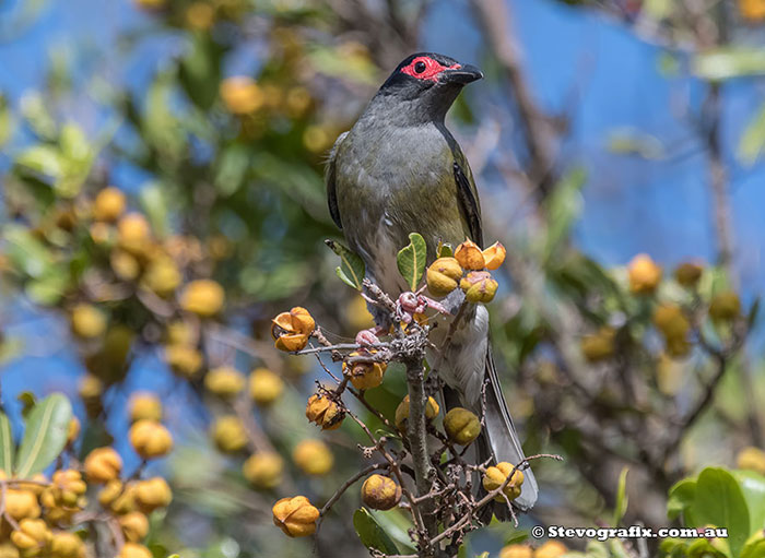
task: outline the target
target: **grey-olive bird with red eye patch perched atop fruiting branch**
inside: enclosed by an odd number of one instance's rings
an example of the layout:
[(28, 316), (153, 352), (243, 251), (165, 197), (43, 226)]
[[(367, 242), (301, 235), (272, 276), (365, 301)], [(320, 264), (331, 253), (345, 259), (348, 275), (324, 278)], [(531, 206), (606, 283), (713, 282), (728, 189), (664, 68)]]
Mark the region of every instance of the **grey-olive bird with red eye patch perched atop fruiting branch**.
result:
[[(440, 242), (456, 247), (468, 237), (483, 246), (475, 181), (445, 124), (462, 87), (482, 78), (476, 67), (447, 56), (413, 54), (398, 64), (329, 153), (325, 182), (330, 215), (363, 259), (367, 278), (388, 294), (410, 290), (396, 263), (410, 233), (422, 235), (431, 259)], [(461, 296), (459, 289), (452, 293), (457, 294)], [(381, 312), (374, 306), (369, 310), (380, 324)], [(492, 358), (489, 312), (471, 305), (460, 323), (439, 370), (447, 408), (462, 406), (479, 416), (483, 411), (479, 462), (520, 464), (526, 458)], [(514, 506), (529, 510), (538, 491), (527, 468)], [(496, 508), (494, 513), (499, 517)]]

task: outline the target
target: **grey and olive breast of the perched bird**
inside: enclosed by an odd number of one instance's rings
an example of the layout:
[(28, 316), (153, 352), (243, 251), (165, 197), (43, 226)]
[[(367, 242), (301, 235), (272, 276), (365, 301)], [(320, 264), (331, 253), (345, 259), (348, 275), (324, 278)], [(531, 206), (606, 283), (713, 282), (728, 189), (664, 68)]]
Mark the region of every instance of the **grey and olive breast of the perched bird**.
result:
[(425, 238), (431, 260), (439, 241), (464, 239), (454, 155), (435, 127), (354, 128), (336, 164), (343, 230), (384, 289), (403, 285), (396, 254), (410, 233)]

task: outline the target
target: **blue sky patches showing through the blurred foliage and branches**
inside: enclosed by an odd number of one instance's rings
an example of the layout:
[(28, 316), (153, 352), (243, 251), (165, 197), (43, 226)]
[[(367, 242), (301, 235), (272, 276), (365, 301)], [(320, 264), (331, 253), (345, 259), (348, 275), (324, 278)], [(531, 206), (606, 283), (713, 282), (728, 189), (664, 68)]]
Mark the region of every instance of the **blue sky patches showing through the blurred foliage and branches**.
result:
[[(0, 4), (0, 28), (4, 32), (8, 29), (2, 22), (17, 11), (21, 1)], [(697, 105), (701, 85), (688, 78), (662, 76), (658, 69), (660, 48), (597, 13), (549, 0), (514, 0), (510, 5), (513, 32), (519, 38), (525, 68), (541, 106), (560, 110), (573, 87), (579, 94), (573, 107), (572, 136), (564, 146), (565, 161), (589, 169), (584, 214), (576, 228), (578, 245), (605, 264), (623, 264), (643, 251), (668, 265), (688, 258), (714, 258), (706, 159), (687, 123), (680, 121), (671, 108), (683, 96)], [(127, 0), (52, 0), (34, 25), (12, 29), (17, 33), (13, 40), (0, 37), (0, 90), (17, 102), (26, 90), (40, 85), (51, 50), (66, 52), (75, 47), (106, 57), (109, 63), (98, 62), (96, 67), (107, 69), (108, 74), (102, 78), (140, 87), (163, 58), (179, 48), (173, 37), (153, 39), (137, 55), (123, 59), (115, 44), (117, 33), (141, 25), (151, 25), (151, 17), (136, 11)], [(466, 2), (434, 3), (422, 47), (461, 60), (480, 60), (481, 40)], [(89, 57), (78, 60), (86, 64)], [(250, 58), (239, 57), (229, 70), (239, 71), (252, 63)], [(765, 173), (762, 164), (751, 169), (740, 167), (733, 154), (764, 93), (763, 83), (752, 80), (725, 86), (723, 145), (731, 165), (737, 265), (749, 295), (763, 290), (765, 285)], [(655, 135), (669, 152), (686, 155), (645, 162), (610, 153), (607, 138), (613, 130), (625, 128)], [(17, 332), (28, 330), (39, 335), (51, 328), (52, 335), (63, 335), (61, 324), (36, 317), (21, 304), (8, 308), (9, 313), (21, 320), (11, 320)], [(43, 391), (71, 390), (71, 382), (49, 381), (80, 373), (74, 363), (64, 347), (54, 358), (26, 357), (14, 363), (2, 371), (3, 400), (11, 402), (22, 387), (38, 383)], [(173, 390), (157, 361), (149, 359), (145, 364), (131, 385)]]

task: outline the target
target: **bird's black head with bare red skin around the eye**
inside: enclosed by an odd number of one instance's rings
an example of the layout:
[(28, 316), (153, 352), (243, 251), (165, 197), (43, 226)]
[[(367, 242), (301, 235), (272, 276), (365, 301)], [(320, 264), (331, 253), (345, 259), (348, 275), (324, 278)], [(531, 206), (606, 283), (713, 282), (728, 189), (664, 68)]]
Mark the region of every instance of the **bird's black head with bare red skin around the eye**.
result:
[(443, 118), (463, 85), (483, 78), (481, 70), (448, 56), (416, 52), (405, 58), (386, 80), (377, 97), (411, 105), (431, 118)]

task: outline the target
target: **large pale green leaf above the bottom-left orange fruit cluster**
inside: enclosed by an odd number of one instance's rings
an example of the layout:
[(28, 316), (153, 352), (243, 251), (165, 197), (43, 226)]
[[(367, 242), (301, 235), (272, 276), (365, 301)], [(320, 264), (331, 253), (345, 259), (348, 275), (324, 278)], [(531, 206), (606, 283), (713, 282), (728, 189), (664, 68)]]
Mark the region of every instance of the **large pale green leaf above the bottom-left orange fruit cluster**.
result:
[(42, 400), (30, 413), (19, 454), (15, 474), (28, 478), (50, 465), (67, 444), (72, 405), (61, 393)]

